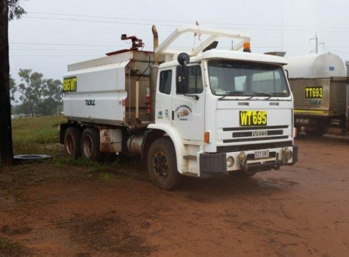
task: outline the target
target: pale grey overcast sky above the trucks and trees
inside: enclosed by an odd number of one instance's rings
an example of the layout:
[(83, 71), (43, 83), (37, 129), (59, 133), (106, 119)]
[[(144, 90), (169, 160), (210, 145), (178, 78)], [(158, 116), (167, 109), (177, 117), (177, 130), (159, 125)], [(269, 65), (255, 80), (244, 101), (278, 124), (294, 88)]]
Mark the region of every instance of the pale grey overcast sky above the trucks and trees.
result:
[[(331, 52), (349, 60), (348, 0), (28, 0), (27, 14), (9, 23), (11, 75), (32, 69), (62, 80), (67, 65), (129, 48), (122, 33), (153, 49), (151, 25), (160, 43), (178, 26), (195, 25), (247, 33), (252, 51), (287, 56)], [(193, 44), (190, 42), (190, 44)]]

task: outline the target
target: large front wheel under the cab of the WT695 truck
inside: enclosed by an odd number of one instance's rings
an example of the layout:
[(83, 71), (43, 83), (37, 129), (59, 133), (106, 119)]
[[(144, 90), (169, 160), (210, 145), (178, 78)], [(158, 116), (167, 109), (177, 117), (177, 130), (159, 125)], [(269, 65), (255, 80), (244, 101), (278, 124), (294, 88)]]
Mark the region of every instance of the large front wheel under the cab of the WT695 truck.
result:
[(163, 190), (172, 190), (181, 184), (177, 170), (176, 152), (168, 138), (159, 138), (151, 144), (147, 167), (151, 182)]

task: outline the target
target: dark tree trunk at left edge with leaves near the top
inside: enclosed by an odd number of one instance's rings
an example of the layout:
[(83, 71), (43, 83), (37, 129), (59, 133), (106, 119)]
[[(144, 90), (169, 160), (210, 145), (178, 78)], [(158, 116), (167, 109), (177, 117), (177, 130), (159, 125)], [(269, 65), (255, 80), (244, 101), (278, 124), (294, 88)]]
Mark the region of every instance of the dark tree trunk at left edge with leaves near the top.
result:
[(0, 0), (0, 163), (8, 165), (14, 158), (9, 94), (9, 20), (21, 18), (24, 13), (19, 0)]

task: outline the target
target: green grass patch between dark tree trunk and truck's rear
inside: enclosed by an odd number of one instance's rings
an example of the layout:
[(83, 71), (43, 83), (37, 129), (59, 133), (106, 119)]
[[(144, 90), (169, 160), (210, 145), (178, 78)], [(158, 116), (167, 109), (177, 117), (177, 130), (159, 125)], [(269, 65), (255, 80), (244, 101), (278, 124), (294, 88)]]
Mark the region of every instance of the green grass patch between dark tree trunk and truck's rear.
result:
[(12, 120), (14, 154), (52, 154), (59, 146), (58, 126), (63, 116), (42, 116)]

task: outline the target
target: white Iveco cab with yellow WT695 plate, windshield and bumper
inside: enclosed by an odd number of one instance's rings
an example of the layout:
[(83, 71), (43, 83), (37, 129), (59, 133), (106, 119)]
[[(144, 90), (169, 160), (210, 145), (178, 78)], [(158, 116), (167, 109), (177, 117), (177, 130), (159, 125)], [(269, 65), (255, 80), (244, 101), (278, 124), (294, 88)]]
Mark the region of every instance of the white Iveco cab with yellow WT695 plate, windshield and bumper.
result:
[(184, 78), (176, 61), (159, 66), (149, 128), (166, 126), (171, 141), (181, 142), (174, 143), (179, 173), (253, 175), (296, 162), (283, 65), (281, 57), (213, 49), (190, 57)]

